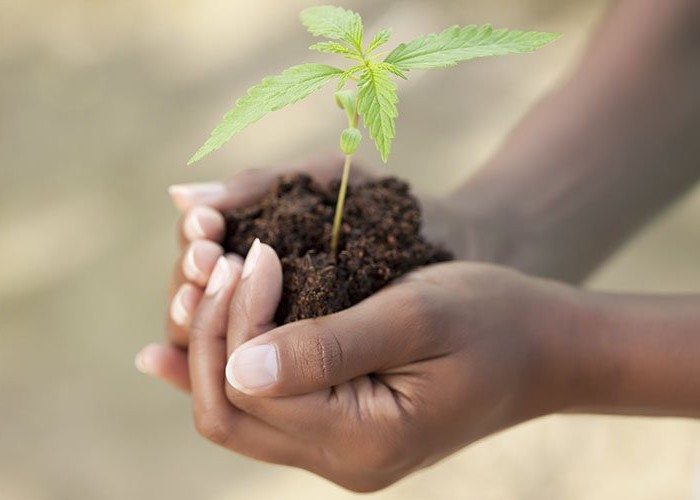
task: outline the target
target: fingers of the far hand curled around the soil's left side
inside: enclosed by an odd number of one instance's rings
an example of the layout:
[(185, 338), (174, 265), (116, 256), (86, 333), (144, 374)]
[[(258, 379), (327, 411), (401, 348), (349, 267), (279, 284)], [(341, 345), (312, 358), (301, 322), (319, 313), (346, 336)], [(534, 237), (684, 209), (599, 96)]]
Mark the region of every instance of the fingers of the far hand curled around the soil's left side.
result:
[[(139, 370), (156, 376), (184, 391), (190, 390), (187, 366), (189, 326), (217, 259), (223, 255), (221, 242), (226, 222), (223, 213), (250, 206), (261, 199), (283, 174), (306, 173), (321, 183), (337, 178), (343, 158), (320, 155), (300, 165), (250, 169), (225, 182), (172, 186), (173, 203), (182, 214), (177, 227), (180, 250), (167, 294), (166, 342), (149, 344), (136, 356)], [(351, 181), (369, 176), (353, 169)], [(232, 261), (242, 258), (233, 254)]]

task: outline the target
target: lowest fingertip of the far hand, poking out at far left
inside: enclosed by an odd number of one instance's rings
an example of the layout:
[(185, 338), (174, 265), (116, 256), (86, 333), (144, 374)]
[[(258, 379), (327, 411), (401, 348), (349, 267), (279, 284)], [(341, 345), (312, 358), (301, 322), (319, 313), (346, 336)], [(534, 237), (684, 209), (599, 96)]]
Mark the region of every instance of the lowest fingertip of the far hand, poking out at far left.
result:
[(136, 355), (135, 363), (141, 373), (159, 378), (185, 392), (190, 391), (187, 353), (182, 349), (149, 344)]

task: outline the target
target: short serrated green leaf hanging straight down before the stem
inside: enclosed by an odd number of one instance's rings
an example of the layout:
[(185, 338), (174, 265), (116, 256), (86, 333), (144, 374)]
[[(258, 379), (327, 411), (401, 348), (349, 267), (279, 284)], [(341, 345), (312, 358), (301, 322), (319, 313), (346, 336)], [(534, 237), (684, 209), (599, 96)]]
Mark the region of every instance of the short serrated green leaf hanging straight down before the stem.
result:
[(394, 120), (399, 115), (396, 103), (396, 84), (386, 69), (369, 65), (357, 82), (357, 107), (369, 136), (386, 163), (391, 152), (391, 141), (396, 136)]

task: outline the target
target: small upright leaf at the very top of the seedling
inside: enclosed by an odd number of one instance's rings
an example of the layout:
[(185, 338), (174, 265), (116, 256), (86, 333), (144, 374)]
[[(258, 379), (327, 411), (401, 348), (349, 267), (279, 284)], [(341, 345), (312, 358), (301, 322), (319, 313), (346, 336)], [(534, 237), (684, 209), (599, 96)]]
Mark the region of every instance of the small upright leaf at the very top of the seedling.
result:
[(300, 17), (312, 35), (343, 41), (362, 52), (362, 18), (356, 12), (324, 5), (304, 9)]

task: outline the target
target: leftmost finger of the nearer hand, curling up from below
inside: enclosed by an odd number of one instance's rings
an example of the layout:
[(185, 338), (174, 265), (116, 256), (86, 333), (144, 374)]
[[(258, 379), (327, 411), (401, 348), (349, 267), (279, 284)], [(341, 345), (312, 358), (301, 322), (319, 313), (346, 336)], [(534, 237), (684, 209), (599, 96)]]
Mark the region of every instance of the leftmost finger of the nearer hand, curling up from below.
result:
[(237, 410), (224, 393), (228, 306), (240, 266), (221, 258), (192, 319), (189, 366), (195, 425), (207, 439), (273, 463), (308, 463), (317, 448), (304, 445)]

